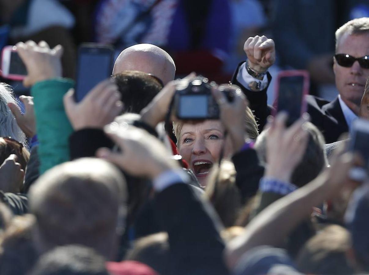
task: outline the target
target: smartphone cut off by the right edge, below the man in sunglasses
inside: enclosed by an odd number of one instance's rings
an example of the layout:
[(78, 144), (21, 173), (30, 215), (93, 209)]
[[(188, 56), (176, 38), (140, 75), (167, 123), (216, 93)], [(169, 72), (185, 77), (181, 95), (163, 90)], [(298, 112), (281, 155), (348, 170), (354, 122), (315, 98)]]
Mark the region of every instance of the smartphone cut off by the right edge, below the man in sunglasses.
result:
[(369, 171), (369, 121), (356, 119), (351, 126), (351, 139), (349, 150), (358, 152), (364, 160), (362, 167), (354, 167), (349, 172), (349, 177), (356, 181), (363, 181), (368, 177)]

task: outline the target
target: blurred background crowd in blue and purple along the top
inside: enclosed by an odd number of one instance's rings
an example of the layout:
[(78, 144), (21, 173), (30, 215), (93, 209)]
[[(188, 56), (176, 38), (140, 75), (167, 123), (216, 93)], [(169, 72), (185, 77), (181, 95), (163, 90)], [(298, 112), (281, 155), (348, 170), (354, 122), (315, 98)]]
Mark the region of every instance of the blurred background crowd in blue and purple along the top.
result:
[[(334, 32), (367, 16), (368, 0), (0, 0), (0, 48), (29, 39), (61, 44), (63, 74), (74, 78), (80, 43), (108, 43), (117, 53), (152, 43), (170, 53), (179, 76), (196, 71), (224, 83), (245, 59), (246, 39), (266, 35), (277, 49), (272, 76), (308, 70), (311, 91), (332, 100)], [(269, 104), (273, 90), (272, 81)]]

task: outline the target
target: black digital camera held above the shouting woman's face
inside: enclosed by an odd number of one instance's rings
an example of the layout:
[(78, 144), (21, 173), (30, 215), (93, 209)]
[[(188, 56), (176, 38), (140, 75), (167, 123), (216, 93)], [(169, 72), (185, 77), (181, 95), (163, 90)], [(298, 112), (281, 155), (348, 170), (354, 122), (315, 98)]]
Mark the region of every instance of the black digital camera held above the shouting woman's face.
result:
[[(174, 98), (174, 108), (179, 119), (219, 119), (219, 106), (211, 94), (211, 88), (216, 86), (209, 83), (206, 77), (198, 76), (188, 85), (179, 83)], [(231, 89), (224, 89), (227, 100), (231, 102), (234, 94)]]

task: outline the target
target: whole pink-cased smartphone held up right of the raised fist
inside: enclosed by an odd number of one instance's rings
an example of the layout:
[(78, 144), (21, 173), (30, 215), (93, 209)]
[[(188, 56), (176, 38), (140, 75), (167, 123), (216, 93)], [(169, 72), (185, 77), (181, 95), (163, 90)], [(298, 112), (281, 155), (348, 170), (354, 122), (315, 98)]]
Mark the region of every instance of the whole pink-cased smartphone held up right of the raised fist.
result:
[(288, 113), (291, 125), (306, 112), (306, 95), (309, 91), (309, 73), (305, 70), (282, 71), (277, 76), (273, 116), (280, 111)]

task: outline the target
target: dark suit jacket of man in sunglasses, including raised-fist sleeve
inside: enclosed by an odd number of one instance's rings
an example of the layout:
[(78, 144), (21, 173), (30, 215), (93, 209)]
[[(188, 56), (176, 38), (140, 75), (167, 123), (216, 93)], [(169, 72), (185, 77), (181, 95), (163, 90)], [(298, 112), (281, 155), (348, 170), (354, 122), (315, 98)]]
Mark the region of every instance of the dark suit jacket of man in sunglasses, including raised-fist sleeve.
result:
[[(248, 90), (236, 79), (238, 69), (239, 67), (232, 77), (232, 83), (242, 88), (250, 103), (250, 109), (254, 112), (254, 116), (259, 123), (259, 132), (261, 132), (266, 124), (266, 118), (272, 110), (272, 107), (267, 104), (266, 90), (268, 87), (256, 92)], [(269, 82), (271, 78), (268, 74)], [(326, 143), (336, 142), (342, 133), (348, 132), (348, 126), (341, 105), (339, 105), (338, 97), (329, 102), (322, 98), (307, 95), (306, 100), (310, 121), (323, 133)]]

